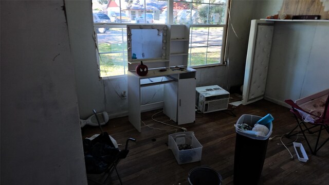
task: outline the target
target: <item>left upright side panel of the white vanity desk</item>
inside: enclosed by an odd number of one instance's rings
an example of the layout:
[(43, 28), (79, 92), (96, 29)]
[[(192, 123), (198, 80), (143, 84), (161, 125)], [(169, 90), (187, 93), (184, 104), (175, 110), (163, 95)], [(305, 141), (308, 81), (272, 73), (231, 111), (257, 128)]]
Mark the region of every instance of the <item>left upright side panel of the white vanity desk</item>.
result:
[(140, 132), (140, 80), (128, 72), (129, 122)]

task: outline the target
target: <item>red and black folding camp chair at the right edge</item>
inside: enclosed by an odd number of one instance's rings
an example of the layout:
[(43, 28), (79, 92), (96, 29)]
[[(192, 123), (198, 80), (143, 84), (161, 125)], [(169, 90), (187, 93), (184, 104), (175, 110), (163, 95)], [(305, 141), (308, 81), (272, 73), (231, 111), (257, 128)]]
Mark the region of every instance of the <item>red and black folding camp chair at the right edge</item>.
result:
[[(301, 98), (295, 102), (293, 100), (285, 100), (285, 102), (291, 105), (292, 108), (290, 112), (294, 114), (298, 123), (297, 126), (287, 134), (287, 137), (298, 134), (293, 134), (293, 132), (299, 127), (309, 150), (313, 155), (316, 155), (321, 147), (329, 140), (329, 136), (326, 139), (321, 139), (321, 132), (323, 130), (329, 135), (329, 89)], [(305, 135), (305, 131), (309, 134), (318, 133), (314, 149), (312, 149), (310, 140), (307, 139)], [(320, 140), (321, 143), (319, 143)]]

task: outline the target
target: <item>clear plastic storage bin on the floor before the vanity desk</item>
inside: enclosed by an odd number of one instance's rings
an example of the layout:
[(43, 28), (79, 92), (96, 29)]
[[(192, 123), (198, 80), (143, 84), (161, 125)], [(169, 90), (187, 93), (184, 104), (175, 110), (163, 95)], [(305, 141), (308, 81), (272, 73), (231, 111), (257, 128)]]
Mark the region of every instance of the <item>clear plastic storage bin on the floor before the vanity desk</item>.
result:
[(201, 160), (202, 145), (194, 132), (180, 132), (168, 136), (168, 149), (172, 150), (178, 164)]

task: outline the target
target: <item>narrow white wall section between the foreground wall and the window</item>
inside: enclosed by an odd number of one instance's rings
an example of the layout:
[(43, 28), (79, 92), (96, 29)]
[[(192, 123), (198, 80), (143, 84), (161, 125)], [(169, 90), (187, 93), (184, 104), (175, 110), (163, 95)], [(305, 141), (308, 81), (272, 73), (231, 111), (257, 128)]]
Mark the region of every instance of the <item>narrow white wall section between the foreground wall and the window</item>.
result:
[(86, 119), (105, 111), (104, 83), (99, 80), (91, 1), (65, 1), (72, 56), (74, 59), (79, 113)]

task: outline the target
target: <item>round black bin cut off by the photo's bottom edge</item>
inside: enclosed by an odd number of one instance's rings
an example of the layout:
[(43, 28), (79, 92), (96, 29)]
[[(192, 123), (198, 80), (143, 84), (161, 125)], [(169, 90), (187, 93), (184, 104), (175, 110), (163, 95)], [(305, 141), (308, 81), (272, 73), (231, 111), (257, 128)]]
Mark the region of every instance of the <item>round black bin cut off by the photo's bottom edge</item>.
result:
[(222, 176), (208, 166), (195, 167), (189, 172), (188, 181), (190, 185), (221, 185)]

